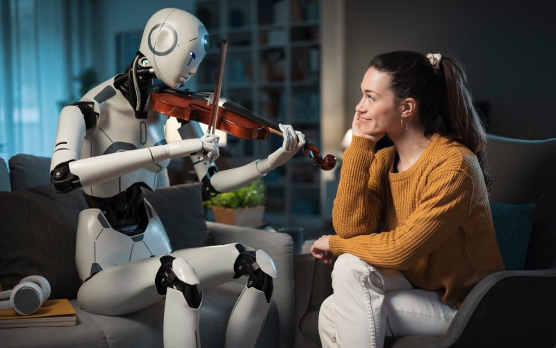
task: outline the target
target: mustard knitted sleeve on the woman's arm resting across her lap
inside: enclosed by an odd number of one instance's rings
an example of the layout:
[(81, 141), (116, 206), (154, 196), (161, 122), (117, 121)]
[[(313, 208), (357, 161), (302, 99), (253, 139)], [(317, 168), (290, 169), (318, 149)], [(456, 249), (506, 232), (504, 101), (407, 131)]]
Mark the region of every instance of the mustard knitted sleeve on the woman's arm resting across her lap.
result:
[(473, 200), (473, 181), (463, 171), (432, 173), (427, 182), (416, 209), (395, 230), (347, 239), (338, 234), (329, 239), (332, 253), (351, 253), (377, 267), (414, 267), (457, 232)]

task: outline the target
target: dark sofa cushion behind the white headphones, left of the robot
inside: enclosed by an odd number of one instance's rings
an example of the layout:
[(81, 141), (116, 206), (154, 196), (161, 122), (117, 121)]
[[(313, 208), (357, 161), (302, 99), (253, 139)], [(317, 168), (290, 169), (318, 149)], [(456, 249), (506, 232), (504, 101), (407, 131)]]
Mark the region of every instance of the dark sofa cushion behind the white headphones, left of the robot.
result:
[[(48, 189), (0, 192), (0, 285), (11, 289), (24, 276), (38, 274), (49, 280), (52, 299), (73, 298), (79, 288), (74, 262), (79, 208), (44, 196)], [(67, 204), (84, 208), (81, 195), (68, 193)]]

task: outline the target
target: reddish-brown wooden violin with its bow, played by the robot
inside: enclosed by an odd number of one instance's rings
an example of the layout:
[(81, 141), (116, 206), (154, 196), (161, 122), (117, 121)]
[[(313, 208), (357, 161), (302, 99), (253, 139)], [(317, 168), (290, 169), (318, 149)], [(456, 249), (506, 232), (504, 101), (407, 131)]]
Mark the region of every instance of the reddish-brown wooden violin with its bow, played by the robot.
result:
[[(172, 116), (186, 121), (197, 121), (214, 129), (220, 129), (231, 136), (247, 140), (267, 139), (273, 133), (284, 136), (279, 131), (276, 122), (259, 116), (240, 104), (220, 98), (220, 81), (222, 79), (223, 56), (221, 56), (219, 69), (219, 82), (215, 93), (195, 93), (190, 90), (176, 90), (164, 85), (158, 85), (152, 93), (151, 109), (166, 116)], [(216, 96), (216, 97), (215, 97)], [(215, 103), (214, 100), (218, 100)], [(322, 158), (320, 150), (315, 145), (306, 142), (302, 151), (313, 159), (313, 164), (324, 171), (329, 171), (336, 166), (336, 157), (326, 155)]]

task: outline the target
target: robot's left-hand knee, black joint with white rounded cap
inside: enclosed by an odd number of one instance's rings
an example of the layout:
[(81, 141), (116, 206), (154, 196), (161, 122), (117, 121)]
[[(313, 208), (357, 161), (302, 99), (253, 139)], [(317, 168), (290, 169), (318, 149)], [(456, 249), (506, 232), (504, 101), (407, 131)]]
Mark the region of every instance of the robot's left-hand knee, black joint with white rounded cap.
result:
[(170, 255), (163, 256), (160, 261), (161, 267), (154, 280), (158, 294), (165, 295), (167, 288), (171, 287), (183, 294), (190, 308), (199, 308), (203, 295), (199, 292), (195, 269), (186, 260)]

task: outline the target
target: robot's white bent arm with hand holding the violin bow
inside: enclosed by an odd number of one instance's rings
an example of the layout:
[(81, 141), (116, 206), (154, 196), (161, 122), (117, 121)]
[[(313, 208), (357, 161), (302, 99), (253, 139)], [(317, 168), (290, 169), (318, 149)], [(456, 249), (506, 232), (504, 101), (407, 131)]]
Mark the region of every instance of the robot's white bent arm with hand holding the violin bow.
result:
[(202, 139), (186, 139), (151, 148), (79, 159), (88, 124), (83, 116), (78, 106), (66, 106), (60, 113), (50, 166), (51, 182), (58, 192), (69, 192), (113, 180), (165, 159), (190, 156), (197, 152), (206, 154), (208, 161), (218, 157), (218, 136), (204, 136)]

